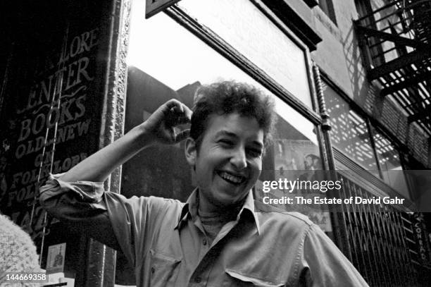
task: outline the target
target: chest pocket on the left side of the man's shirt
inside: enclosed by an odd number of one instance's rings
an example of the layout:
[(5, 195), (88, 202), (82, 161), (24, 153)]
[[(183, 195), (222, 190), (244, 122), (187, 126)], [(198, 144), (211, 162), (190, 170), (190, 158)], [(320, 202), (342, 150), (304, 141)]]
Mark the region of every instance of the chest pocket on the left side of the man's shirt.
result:
[(152, 249), (150, 256), (150, 286), (175, 286), (181, 260)]

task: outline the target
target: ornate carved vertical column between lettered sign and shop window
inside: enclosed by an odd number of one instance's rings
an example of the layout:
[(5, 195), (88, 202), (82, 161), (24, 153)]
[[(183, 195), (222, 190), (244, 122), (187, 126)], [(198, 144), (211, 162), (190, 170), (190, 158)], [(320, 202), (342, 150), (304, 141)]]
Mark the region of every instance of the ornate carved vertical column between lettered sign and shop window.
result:
[[(127, 83), (128, 28), (130, 22), (130, 0), (113, 0), (111, 13), (106, 13), (107, 24), (111, 29), (106, 45), (107, 65), (104, 95), (106, 97), (106, 118), (102, 123), (101, 140), (108, 145), (123, 135), (125, 116), (125, 92)], [(111, 173), (105, 183), (106, 190), (120, 193), (121, 168)], [(96, 240), (87, 242), (87, 260), (83, 286), (114, 286), (115, 283), (115, 250)], [(80, 286), (80, 285), (77, 285)]]

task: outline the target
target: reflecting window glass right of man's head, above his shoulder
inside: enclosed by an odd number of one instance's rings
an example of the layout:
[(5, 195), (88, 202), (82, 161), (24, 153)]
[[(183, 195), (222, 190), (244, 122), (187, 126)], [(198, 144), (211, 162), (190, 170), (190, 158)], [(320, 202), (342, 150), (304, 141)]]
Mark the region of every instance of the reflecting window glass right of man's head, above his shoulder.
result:
[[(322, 173), (316, 171), (323, 169), (316, 135), (316, 126), (301, 116), (292, 107), (276, 98), (278, 121), (274, 144), (268, 148), (263, 160), (261, 178), (256, 183), (256, 200), (263, 200), (263, 181), (319, 181)], [(316, 195), (311, 190), (298, 190), (289, 193), (284, 189), (271, 190), (271, 198), (303, 196), (313, 198)], [(320, 194), (321, 196), (321, 194)], [(306, 214), (313, 222), (331, 236), (332, 231), (330, 214), (323, 204), (311, 206), (307, 204), (273, 204), (280, 209), (296, 211)], [(326, 209), (326, 210), (324, 210)]]

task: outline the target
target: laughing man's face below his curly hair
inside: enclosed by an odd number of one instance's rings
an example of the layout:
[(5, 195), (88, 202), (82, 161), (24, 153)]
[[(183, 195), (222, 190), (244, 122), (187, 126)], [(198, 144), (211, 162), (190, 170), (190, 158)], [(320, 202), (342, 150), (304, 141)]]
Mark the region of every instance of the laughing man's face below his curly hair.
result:
[(262, 152), (263, 130), (256, 118), (209, 116), (199, 152), (189, 161), (196, 166), (200, 208), (211, 212), (244, 200), (261, 173)]

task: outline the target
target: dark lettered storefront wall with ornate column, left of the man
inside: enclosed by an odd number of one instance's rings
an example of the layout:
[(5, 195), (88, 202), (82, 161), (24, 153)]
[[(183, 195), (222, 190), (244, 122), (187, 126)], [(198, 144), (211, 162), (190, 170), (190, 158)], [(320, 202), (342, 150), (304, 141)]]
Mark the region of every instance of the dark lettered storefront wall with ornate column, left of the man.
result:
[[(115, 252), (46, 216), (39, 186), (123, 134), (129, 0), (1, 4), (0, 212), (75, 286), (113, 286)], [(7, 24), (7, 25), (6, 25)], [(106, 181), (118, 193), (120, 170)]]

